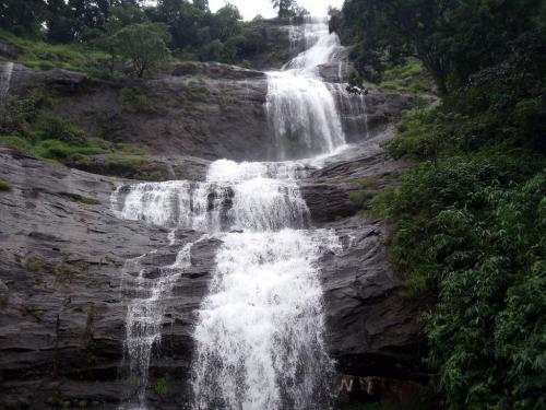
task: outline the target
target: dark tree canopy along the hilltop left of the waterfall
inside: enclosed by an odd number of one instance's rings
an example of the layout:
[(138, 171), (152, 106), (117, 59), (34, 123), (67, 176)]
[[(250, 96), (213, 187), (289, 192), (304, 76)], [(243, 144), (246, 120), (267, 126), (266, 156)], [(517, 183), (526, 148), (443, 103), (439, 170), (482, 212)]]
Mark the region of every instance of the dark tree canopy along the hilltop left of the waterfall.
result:
[[(307, 13), (294, 0), (272, 3), (281, 17)], [(83, 44), (123, 58), (134, 57), (128, 52), (130, 43), (139, 43), (144, 30), (153, 37), (150, 44), (167, 48), (182, 60), (241, 63), (256, 48), (248, 34), (251, 23), (244, 23), (239, 10), (229, 2), (216, 12), (210, 10), (207, 0), (158, 0), (155, 5), (140, 0), (3, 0), (0, 8), (0, 26), (16, 36)], [(152, 48), (140, 51), (139, 75), (154, 66), (141, 67)], [(165, 58), (165, 52), (155, 55), (159, 60)]]

